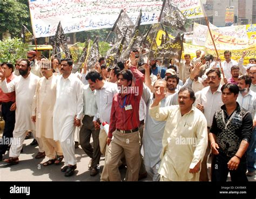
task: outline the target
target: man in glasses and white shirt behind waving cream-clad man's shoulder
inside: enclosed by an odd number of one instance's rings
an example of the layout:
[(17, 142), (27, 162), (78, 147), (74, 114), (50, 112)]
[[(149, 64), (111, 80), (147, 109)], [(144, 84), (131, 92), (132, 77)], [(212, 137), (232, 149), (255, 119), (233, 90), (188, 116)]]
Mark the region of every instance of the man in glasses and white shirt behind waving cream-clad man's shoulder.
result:
[[(196, 93), (195, 105), (197, 108), (204, 113), (207, 120), (208, 133), (212, 125), (213, 115), (216, 111), (223, 105), (221, 101), (221, 76), (220, 71), (216, 69), (211, 69), (206, 73), (209, 86), (203, 88), (203, 90)], [(207, 158), (210, 154), (210, 142), (208, 142), (208, 147), (201, 164), (200, 178), (199, 181), (209, 181), (207, 173)]]

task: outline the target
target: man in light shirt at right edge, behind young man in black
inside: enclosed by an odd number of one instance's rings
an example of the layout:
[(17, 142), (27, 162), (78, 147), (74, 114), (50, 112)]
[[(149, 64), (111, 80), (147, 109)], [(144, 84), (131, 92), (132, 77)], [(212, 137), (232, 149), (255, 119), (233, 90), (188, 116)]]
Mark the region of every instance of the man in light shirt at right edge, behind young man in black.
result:
[(237, 98), (237, 102), (239, 105), (249, 111), (252, 114), (253, 118), (253, 132), (251, 137), (250, 145), (247, 149), (247, 176), (252, 177), (255, 174), (255, 126), (256, 126), (256, 93), (250, 90), (250, 86), (252, 83), (252, 79), (246, 75), (240, 76), (238, 78), (238, 87), (239, 87), (239, 94)]

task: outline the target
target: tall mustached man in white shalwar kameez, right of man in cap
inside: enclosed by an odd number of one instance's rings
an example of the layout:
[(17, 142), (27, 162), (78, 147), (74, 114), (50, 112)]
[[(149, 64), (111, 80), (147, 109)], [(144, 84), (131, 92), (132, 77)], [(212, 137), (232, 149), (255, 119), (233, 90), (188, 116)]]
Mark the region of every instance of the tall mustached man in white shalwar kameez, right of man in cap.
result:
[(80, 126), (83, 114), (83, 83), (72, 71), (72, 60), (60, 62), (62, 75), (57, 79), (56, 102), (53, 109), (54, 140), (60, 142), (65, 166), (65, 176), (73, 175), (76, 166), (74, 134), (76, 126)]

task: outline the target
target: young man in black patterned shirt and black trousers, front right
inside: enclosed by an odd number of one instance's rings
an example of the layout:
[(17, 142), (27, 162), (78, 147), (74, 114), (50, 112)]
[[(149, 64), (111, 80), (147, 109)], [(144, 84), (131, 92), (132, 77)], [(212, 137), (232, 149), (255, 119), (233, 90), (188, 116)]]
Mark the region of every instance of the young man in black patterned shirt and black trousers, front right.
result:
[(212, 153), (212, 181), (248, 181), (246, 150), (251, 140), (253, 120), (250, 112), (237, 103), (239, 88), (225, 84), (221, 87), (224, 105), (213, 116), (209, 139)]

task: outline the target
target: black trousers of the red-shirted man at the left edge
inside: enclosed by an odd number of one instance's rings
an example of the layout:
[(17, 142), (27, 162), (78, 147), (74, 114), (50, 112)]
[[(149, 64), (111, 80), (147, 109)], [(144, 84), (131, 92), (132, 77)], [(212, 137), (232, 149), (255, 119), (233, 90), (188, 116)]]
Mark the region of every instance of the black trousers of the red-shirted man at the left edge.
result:
[[(14, 132), (15, 126), (15, 111), (10, 111), (11, 105), (14, 102), (3, 102), (2, 103), (2, 116), (4, 119), (4, 132), (3, 132), (3, 140), (0, 143), (0, 155), (5, 154), (8, 145), (10, 144), (10, 139), (12, 138), (12, 132)], [(9, 140), (7, 142), (7, 140)]]

